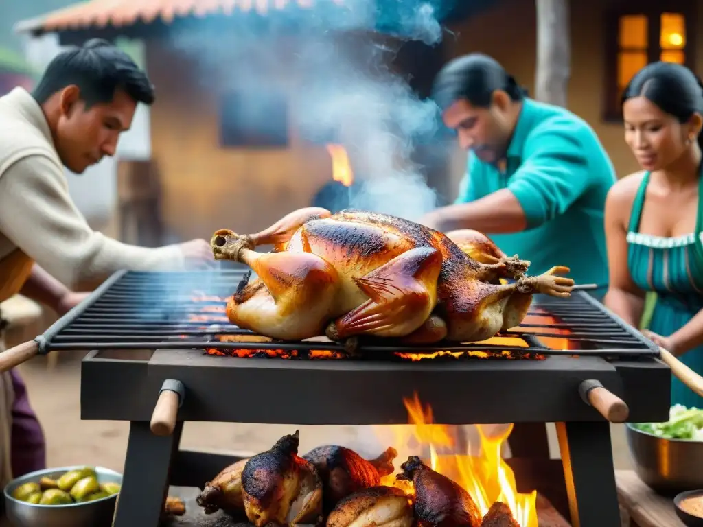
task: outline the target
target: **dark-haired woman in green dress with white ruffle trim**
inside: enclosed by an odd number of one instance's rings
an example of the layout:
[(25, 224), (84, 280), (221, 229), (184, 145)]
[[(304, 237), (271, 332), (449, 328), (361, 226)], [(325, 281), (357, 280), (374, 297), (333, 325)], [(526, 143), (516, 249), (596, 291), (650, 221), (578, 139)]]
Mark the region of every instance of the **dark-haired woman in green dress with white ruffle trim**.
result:
[[(657, 303), (643, 330), (703, 373), (703, 86), (688, 68), (652, 63), (622, 97), (625, 141), (642, 171), (621, 178), (605, 204), (610, 286), (605, 305), (634, 327), (645, 294)], [(703, 408), (676, 377), (671, 404)]]

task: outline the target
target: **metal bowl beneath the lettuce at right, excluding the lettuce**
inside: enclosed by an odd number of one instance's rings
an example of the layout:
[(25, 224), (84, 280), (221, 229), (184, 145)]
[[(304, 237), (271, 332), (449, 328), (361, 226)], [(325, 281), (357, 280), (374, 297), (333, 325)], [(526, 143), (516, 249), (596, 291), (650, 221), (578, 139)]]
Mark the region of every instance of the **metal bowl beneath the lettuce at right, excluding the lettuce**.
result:
[(631, 424), (626, 436), (635, 471), (652, 490), (675, 495), (703, 488), (703, 441), (664, 439)]

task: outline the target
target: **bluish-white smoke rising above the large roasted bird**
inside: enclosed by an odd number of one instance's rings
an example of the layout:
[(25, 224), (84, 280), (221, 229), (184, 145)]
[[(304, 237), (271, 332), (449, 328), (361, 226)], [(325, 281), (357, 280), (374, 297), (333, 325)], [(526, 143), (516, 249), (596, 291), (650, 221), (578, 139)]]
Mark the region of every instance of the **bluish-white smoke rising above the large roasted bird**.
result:
[[(203, 79), (211, 87), (217, 82), (262, 96), (276, 89), (290, 101), (298, 129), (311, 135), (335, 129), (335, 143), (348, 150), (359, 183), (349, 190), (352, 207), (415, 221), (434, 209), (434, 190), (411, 154), (435, 137), (437, 106), (420, 100), (389, 64), (403, 40), (439, 44), (437, 6), (317, 0), (311, 9), (271, 9), (265, 18), (235, 13), (231, 25), (217, 28), (202, 21), (175, 34), (172, 46), (217, 70), (219, 79)], [(375, 32), (379, 26), (395, 38)]]

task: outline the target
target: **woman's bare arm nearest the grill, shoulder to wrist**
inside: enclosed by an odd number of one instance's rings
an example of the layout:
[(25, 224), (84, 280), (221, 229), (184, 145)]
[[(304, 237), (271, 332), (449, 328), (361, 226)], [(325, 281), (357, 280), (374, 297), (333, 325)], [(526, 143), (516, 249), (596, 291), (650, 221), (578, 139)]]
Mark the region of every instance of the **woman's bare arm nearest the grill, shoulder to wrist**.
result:
[(640, 327), (645, 292), (635, 285), (627, 266), (627, 220), (636, 186), (627, 178), (615, 183), (605, 200), (608, 290), (603, 303), (632, 327)]

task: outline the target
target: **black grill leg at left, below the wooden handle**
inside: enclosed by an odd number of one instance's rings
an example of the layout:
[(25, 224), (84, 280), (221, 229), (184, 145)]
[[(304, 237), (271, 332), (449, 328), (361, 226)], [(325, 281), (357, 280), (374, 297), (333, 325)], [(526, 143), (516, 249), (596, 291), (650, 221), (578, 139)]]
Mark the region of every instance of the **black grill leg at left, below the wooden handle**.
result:
[(112, 527), (157, 527), (169, 486), (169, 471), (181, 442), (183, 422), (170, 436), (155, 436), (149, 423), (129, 423), (127, 457)]

